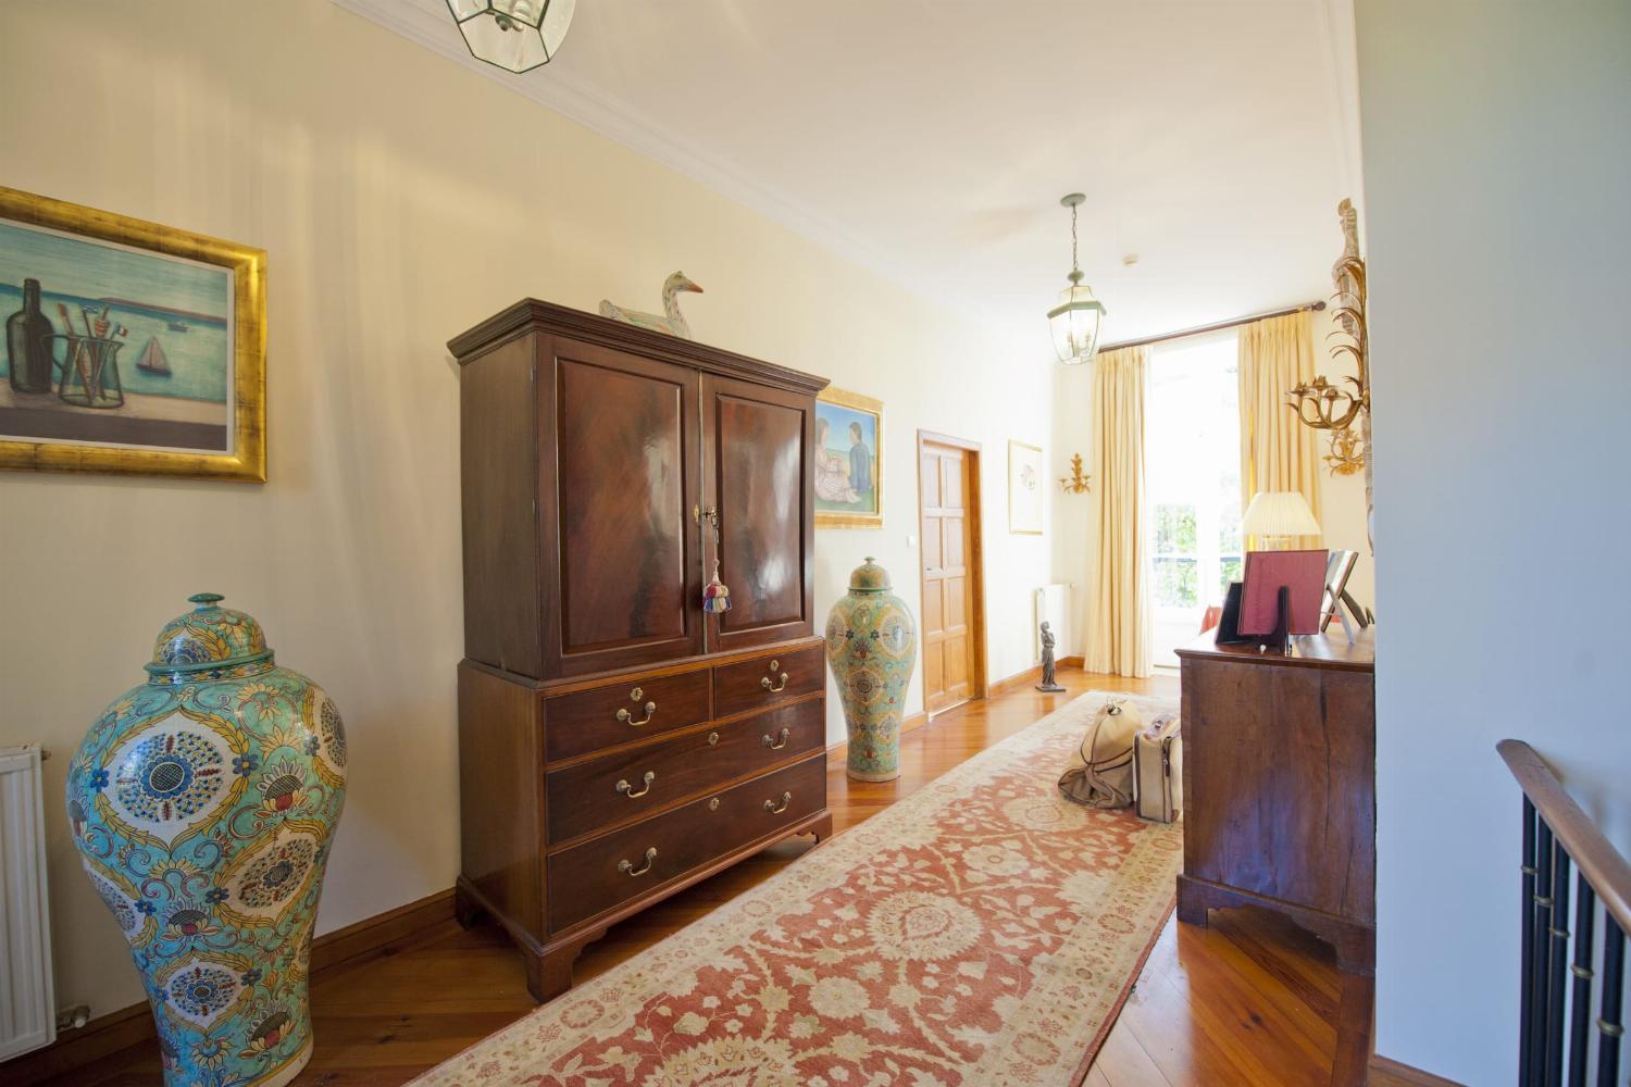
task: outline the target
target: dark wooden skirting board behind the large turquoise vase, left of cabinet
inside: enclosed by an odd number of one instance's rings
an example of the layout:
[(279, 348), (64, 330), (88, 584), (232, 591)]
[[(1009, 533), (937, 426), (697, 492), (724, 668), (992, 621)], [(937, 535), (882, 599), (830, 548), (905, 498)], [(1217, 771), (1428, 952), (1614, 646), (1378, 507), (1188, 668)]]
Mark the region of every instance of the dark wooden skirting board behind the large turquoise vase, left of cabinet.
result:
[[(453, 921), (453, 888), (447, 888), (316, 937), (312, 940), (312, 973), (316, 975), (359, 958), (373, 958), (409, 940), (432, 935), (435, 929), (452, 931), (457, 924)], [(152, 1036), (153, 1012), (145, 1001), (121, 1007), (117, 1012), (98, 1015), (78, 1030), (60, 1033), (44, 1050), (0, 1063), (0, 1080), (7, 1087), (28, 1087), (65, 1076)]]

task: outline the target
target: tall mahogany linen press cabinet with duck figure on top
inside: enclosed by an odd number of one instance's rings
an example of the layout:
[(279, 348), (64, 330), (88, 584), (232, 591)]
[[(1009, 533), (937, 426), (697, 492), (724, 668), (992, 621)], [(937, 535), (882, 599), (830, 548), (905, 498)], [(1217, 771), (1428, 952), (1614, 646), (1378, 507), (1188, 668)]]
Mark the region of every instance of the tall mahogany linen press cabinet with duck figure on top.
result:
[[(607, 926), (832, 833), (811, 484), (827, 381), (535, 300), (449, 349), (458, 916), (496, 918), (548, 1001)], [(716, 569), (732, 606), (713, 614)]]

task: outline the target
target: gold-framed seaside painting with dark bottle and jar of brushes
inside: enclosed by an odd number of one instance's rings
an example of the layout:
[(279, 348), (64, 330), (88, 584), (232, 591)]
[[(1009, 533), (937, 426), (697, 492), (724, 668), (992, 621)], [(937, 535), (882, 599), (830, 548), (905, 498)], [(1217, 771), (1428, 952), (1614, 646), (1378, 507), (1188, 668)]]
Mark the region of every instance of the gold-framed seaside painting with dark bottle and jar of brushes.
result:
[(266, 253), (0, 186), (0, 468), (266, 482)]

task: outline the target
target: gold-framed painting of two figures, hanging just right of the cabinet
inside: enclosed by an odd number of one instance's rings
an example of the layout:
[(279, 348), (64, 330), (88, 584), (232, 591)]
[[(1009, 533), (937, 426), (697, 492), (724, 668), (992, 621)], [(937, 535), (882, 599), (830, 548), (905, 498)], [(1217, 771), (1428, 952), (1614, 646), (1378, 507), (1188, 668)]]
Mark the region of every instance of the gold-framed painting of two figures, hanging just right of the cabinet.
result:
[(884, 526), (884, 403), (827, 388), (816, 398), (816, 528)]

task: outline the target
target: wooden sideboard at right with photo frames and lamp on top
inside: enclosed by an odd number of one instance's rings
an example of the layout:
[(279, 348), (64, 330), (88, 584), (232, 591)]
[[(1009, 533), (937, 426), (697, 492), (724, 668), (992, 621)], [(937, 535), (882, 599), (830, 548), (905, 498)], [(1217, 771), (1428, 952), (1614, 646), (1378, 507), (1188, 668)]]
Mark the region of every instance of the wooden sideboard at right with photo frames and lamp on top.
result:
[(1370, 975), (1377, 937), (1375, 627), (1297, 654), (1215, 645), (1182, 663), (1184, 872), (1178, 918), (1277, 909)]

